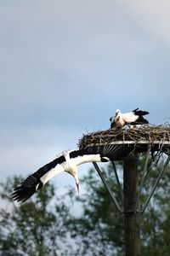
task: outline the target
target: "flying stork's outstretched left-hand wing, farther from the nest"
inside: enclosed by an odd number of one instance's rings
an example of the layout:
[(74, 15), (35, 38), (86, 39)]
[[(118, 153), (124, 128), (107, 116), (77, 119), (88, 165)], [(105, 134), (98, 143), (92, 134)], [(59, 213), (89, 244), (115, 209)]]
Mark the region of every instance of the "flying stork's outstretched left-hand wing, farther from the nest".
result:
[(15, 201), (26, 201), (38, 189), (48, 182), (51, 177), (64, 171), (59, 164), (65, 161), (65, 157), (61, 155), (59, 158), (51, 161), (45, 166), (42, 166), (37, 172), (34, 172), (21, 185), (14, 189), (12, 198)]

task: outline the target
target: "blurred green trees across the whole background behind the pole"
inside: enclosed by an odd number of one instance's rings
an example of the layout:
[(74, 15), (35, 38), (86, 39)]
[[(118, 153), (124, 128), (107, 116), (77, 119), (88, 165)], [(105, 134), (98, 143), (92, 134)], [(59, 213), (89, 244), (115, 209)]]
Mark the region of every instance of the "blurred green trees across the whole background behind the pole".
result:
[[(150, 169), (144, 182), (141, 206), (161, 171), (162, 163)], [(122, 162), (116, 162), (122, 180)], [(139, 159), (139, 182), (144, 169), (144, 157)], [(111, 189), (121, 202), (120, 191), (111, 164), (102, 169)], [(169, 255), (170, 252), (170, 168), (164, 173), (156, 193), (140, 218), (141, 254)], [(4, 205), (0, 208), (0, 254), (32, 256), (122, 256), (124, 255), (124, 218), (117, 212), (98, 173), (89, 170), (80, 196), (68, 189), (67, 195), (57, 196), (48, 184), (19, 207), (10, 199), (12, 189), (20, 183), (8, 179), (1, 184)], [(56, 191), (56, 193), (55, 193)], [(79, 217), (72, 216), (76, 202)], [(78, 202), (78, 203), (77, 203)]]

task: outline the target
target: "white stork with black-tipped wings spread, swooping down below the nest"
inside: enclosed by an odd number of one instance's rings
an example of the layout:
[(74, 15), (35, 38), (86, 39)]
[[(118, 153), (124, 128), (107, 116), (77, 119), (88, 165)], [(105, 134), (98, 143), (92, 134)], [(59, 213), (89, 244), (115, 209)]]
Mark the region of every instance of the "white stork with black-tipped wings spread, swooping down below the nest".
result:
[(60, 172), (68, 172), (75, 178), (77, 190), (79, 191), (79, 179), (77, 177), (77, 166), (87, 162), (107, 162), (109, 157), (96, 148), (82, 150), (64, 151), (58, 158), (42, 166), (34, 172), (21, 185), (14, 189), (12, 198), (15, 201), (26, 201), (37, 190), (42, 189), (49, 179), (58, 175)]

